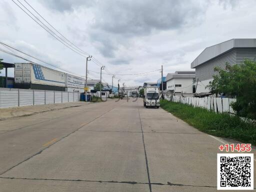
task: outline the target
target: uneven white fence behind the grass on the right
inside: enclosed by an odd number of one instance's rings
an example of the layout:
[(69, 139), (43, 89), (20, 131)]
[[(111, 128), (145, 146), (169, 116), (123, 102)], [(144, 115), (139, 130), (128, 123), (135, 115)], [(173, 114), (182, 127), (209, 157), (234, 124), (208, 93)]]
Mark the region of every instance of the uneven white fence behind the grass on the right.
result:
[(205, 96), (202, 98), (192, 96), (173, 96), (165, 95), (165, 99), (173, 102), (181, 102), (184, 104), (190, 104), (192, 106), (203, 107), (215, 112), (229, 112), (235, 113), (230, 103), (236, 101), (235, 98), (220, 98)]

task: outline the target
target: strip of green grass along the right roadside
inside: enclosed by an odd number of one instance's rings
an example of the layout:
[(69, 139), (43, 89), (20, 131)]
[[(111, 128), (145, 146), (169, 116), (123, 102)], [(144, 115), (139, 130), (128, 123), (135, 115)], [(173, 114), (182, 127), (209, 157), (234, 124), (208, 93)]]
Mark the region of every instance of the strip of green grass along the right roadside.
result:
[(228, 113), (215, 113), (200, 107), (160, 100), (160, 106), (200, 131), (256, 144), (256, 125)]

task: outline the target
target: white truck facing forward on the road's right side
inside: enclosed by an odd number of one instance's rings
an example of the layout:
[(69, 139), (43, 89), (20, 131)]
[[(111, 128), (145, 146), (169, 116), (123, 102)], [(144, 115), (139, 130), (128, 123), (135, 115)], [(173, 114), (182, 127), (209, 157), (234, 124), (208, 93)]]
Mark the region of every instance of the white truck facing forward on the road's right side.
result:
[(160, 99), (159, 99), (159, 88), (158, 87), (145, 87), (144, 96), (143, 96), (144, 106), (156, 106), (159, 108)]

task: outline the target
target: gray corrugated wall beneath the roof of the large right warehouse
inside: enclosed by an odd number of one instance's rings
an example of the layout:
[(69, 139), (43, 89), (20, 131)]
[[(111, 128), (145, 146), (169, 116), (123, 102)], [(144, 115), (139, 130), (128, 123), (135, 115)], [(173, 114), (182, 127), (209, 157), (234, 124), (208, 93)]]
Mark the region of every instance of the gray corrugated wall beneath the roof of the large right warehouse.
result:
[(198, 80), (206, 80), (212, 78), (212, 75), (217, 74), (214, 72), (214, 67), (225, 67), (225, 63), (240, 64), (245, 58), (254, 60), (256, 57), (256, 48), (235, 48), (231, 51), (220, 55), (210, 61), (207, 61), (195, 67), (195, 78)]

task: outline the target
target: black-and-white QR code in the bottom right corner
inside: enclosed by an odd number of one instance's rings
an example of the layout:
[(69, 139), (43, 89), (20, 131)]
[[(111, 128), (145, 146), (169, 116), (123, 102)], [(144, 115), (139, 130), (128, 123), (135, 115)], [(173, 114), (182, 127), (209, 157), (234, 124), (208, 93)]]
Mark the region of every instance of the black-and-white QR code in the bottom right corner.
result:
[(253, 190), (253, 153), (218, 153), (217, 189)]

